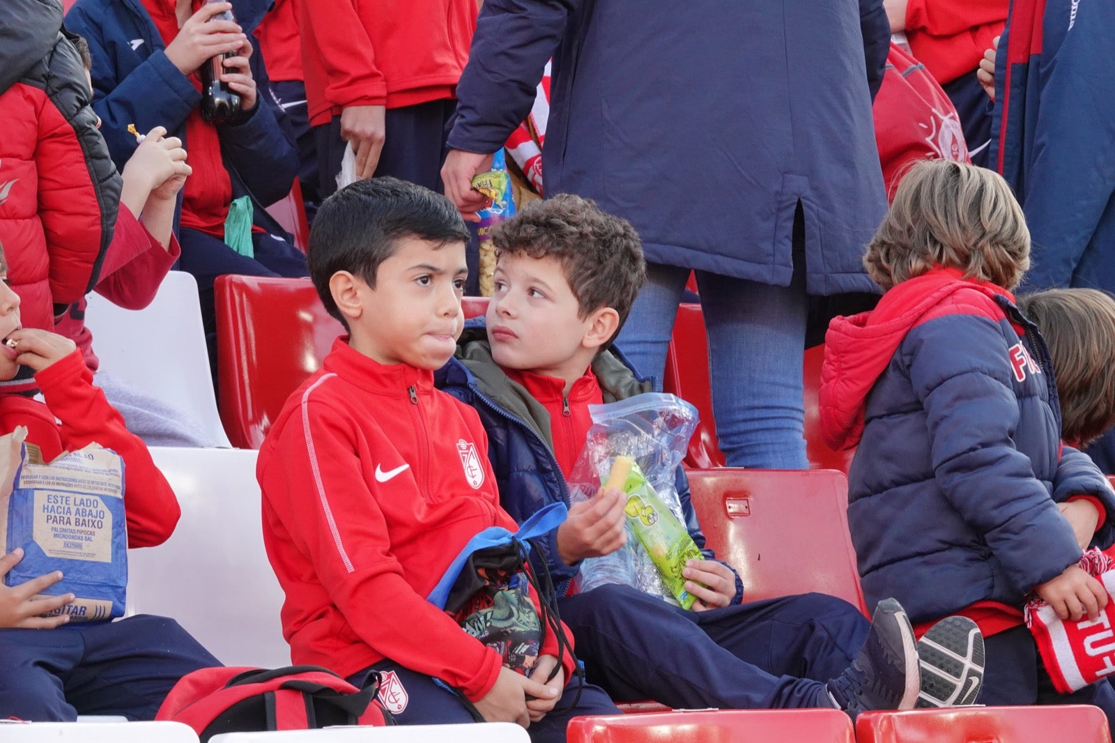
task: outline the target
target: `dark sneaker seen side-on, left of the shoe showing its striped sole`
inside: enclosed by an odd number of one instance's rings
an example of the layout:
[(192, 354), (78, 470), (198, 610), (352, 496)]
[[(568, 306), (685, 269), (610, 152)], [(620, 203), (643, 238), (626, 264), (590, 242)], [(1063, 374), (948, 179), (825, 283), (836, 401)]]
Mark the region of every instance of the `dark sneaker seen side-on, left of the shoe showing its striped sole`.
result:
[(852, 665), (826, 684), (841, 710), (855, 717), (866, 710), (912, 710), (921, 689), (918, 644), (905, 610), (883, 599), (871, 633)]

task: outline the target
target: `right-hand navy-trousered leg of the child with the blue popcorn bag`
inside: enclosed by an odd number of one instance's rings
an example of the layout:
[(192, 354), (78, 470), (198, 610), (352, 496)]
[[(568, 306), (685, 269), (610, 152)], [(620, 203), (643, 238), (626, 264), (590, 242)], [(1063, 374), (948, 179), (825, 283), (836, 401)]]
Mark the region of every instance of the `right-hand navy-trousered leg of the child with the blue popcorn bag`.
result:
[(66, 698), (83, 715), (154, 720), (180, 678), (222, 665), (167, 617), (137, 615), (78, 631), (81, 662), (66, 679)]

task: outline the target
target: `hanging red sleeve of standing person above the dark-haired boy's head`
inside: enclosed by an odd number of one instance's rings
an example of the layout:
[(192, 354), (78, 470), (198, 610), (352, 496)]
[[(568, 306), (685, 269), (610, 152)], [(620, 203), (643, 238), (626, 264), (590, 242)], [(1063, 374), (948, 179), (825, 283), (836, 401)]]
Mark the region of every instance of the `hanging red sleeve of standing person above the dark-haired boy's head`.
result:
[(324, 67), (324, 96), (331, 106), (382, 106), (387, 81), (353, 0), (303, 0), (298, 3), (302, 49), (311, 49)]

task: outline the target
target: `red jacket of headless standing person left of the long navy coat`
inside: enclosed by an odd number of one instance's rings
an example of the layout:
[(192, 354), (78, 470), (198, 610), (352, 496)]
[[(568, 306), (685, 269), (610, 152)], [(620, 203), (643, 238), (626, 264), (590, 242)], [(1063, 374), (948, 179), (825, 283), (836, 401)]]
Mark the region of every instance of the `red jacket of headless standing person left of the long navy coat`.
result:
[(311, 125), (348, 106), (400, 108), (456, 96), (476, 0), (293, 1)]

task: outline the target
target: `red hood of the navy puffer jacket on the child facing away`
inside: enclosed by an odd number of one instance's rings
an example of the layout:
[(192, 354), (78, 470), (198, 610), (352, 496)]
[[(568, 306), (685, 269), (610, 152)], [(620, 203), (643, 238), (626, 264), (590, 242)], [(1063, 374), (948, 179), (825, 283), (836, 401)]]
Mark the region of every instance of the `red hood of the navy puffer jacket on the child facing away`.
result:
[(998, 317), (1006, 311), (997, 298), (1014, 305), (1010, 292), (993, 283), (964, 279), (956, 269), (934, 269), (892, 288), (871, 311), (833, 319), (825, 334), (818, 405), (821, 433), (831, 447), (842, 451), (860, 442), (867, 395), (906, 334), (964, 290), (991, 299)]

